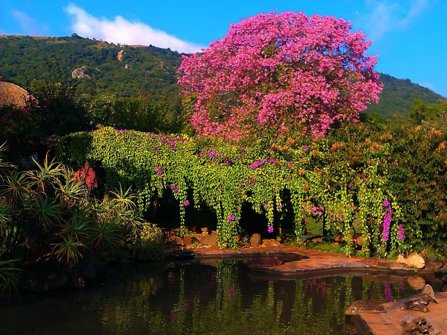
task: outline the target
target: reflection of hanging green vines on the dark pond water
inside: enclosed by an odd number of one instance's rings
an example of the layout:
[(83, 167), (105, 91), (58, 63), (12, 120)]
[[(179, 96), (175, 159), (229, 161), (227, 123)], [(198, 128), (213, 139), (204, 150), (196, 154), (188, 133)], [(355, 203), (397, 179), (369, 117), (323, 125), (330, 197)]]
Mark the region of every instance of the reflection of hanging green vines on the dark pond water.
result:
[[(170, 292), (166, 282), (160, 286), (160, 276), (141, 276), (121, 296), (96, 297), (94, 308), (101, 310), (103, 329), (149, 335), (346, 334), (344, 312), (354, 300), (384, 300), (384, 283), (359, 277), (248, 283), (237, 261), (220, 260), (211, 274), (202, 269), (170, 269)], [(413, 293), (400, 283), (389, 289), (396, 299)], [(154, 294), (161, 299), (159, 305)]]

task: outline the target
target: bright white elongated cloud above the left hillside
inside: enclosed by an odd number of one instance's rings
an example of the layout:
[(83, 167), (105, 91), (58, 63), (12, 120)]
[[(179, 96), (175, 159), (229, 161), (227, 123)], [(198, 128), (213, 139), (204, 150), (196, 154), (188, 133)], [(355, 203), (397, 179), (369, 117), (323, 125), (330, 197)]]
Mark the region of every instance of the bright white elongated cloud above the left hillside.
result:
[(154, 29), (139, 21), (127, 21), (117, 15), (114, 20), (90, 15), (84, 9), (70, 4), (65, 11), (73, 16), (71, 28), (80, 36), (102, 39), (107, 42), (128, 45), (143, 44), (170, 48), (179, 52), (198, 52), (203, 46), (170, 35), (163, 30)]

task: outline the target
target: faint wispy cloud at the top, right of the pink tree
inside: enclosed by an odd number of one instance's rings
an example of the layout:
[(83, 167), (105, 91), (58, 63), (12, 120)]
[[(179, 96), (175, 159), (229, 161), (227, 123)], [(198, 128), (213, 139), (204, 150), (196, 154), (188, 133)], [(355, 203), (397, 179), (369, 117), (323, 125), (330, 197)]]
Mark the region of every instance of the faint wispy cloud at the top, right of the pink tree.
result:
[(359, 19), (366, 28), (368, 37), (378, 39), (394, 29), (405, 29), (411, 25), (427, 7), (428, 0), (411, 0), (408, 8), (397, 1), (368, 0), (366, 7), (370, 13)]

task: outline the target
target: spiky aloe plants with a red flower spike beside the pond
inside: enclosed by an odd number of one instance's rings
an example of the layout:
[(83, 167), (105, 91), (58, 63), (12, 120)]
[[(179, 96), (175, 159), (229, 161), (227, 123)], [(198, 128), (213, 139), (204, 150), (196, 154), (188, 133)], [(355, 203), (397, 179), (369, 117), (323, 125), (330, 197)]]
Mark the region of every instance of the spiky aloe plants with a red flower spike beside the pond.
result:
[[(160, 259), (160, 228), (139, 220), (130, 189), (93, 195), (95, 172), (54, 161), (18, 172), (0, 156), (0, 291), (15, 286), (15, 263), (59, 262), (71, 268), (83, 257), (107, 260)], [(20, 250), (21, 260), (11, 259)], [(4, 273), (2, 273), (4, 272)]]

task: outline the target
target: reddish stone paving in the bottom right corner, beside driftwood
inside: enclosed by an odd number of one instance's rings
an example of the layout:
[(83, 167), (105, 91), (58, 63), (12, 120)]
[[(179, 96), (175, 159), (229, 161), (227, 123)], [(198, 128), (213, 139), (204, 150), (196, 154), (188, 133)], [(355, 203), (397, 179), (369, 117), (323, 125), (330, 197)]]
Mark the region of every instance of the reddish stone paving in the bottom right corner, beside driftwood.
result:
[(435, 293), (438, 304), (430, 302), (428, 313), (417, 312), (413, 310), (399, 310), (403, 302), (407, 299), (401, 299), (395, 302), (384, 304), (386, 313), (367, 314), (359, 313), (354, 318), (354, 324), (360, 334), (375, 335), (401, 335), (401, 320), (406, 314), (422, 315), (433, 324), (434, 328), (441, 331), (441, 334), (447, 335), (447, 292)]

